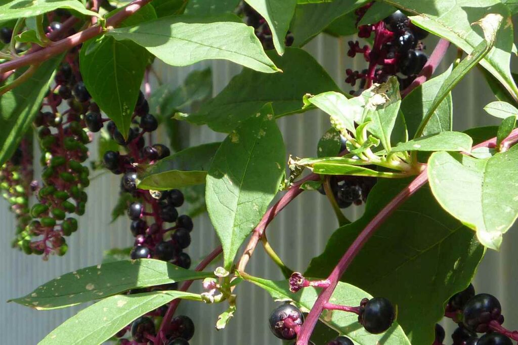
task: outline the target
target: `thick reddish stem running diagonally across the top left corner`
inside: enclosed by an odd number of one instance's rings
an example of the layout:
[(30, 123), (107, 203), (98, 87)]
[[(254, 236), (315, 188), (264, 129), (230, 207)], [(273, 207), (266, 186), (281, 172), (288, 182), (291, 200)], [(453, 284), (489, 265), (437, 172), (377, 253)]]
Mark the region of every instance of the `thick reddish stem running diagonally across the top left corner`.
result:
[[(117, 26), (121, 21), (132, 16), (135, 12), (148, 4), (150, 1), (151, 0), (135, 0), (130, 5), (124, 7), (124, 9), (122, 9), (120, 12), (117, 12), (115, 15), (113, 15), (113, 17), (110, 17), (106, 22), (107, 26)], [(91, 38), (100, 35), (102, 32), (102, 27), (92, 26), (81, 32), (78, 32), (77, 34), (54, 42), (47, 48), (38, 50), (34, 53), (26, 54), (22, 57), (19, 57), (18, 59), (4, 62), (3, 64), (0, 64), (0, 74), (23, 66), (41, 63), (42, 61), (48, 60), (53, 56), (59, 55)]]

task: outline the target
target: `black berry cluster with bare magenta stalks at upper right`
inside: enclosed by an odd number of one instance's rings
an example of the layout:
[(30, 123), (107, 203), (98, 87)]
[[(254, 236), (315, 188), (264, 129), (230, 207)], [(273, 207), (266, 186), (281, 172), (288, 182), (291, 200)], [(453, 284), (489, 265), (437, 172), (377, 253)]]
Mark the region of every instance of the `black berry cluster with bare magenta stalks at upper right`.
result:
[[(370, 6), (367, 5), (366, 8)], [(356, 12), (358, 21), (365, 14), (366, 8)], [(358, 27), (358, 36), (369, 38), (374, 33), (372, 48), (368, 45), (360, 47), (359, 41), (349, 41), (348, 55), (362, 54), (369, 63), (368, 68), (362, 71), (347, 69), (346, 82), (354, 86), (361, 80), (360, 89), (368, 89), (375, 83), (383, 83), (390, 76), (398, 74), (401, 89), (406, 88), (415, 79), (428, 61), (423, 52), (421, 42), (428, 33), (411, 23), (410, 19), (401, 11), (394, 12), (376, 24), (361, 25)], [(351, 93), (355, 93), (352, 91)]]

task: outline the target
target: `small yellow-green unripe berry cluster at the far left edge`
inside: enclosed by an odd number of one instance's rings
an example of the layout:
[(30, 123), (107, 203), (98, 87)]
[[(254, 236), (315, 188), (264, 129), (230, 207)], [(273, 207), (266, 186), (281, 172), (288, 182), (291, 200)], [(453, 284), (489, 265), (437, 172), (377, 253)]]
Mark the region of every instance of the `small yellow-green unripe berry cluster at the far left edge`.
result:
[(28, 206), (32, 195), (32, 145), (28, 138), (22, 139), (11, 159), (0, 169), (0, 190), (2, 196), (11, 205), (10, 209), (16, 215), (16, 235), (13, 247), (18, 247), (27, 253), (31, 252), (28, 242), (21, 238), (25, 227), (31, 222), (31, 210)]

